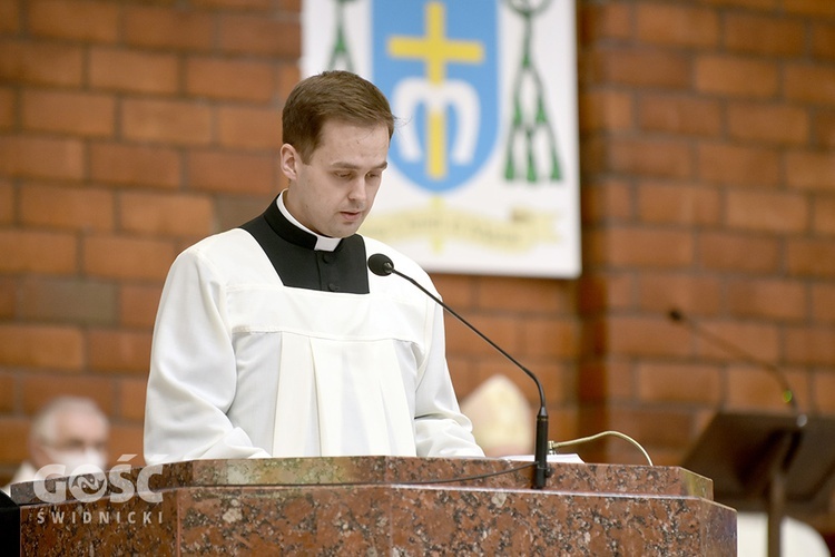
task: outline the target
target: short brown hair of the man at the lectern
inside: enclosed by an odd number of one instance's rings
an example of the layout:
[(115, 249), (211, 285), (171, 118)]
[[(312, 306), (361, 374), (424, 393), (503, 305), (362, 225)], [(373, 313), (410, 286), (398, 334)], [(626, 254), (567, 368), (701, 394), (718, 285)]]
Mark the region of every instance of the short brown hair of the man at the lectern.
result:
[(383, 125), (389, 129), (389, 138), (394, 133), (394, 116), (385, 95), (350, 71), (325, 71), (299, 81), (284, 104), (282, 139), (307, 163), (328, 120), (369, 127)]

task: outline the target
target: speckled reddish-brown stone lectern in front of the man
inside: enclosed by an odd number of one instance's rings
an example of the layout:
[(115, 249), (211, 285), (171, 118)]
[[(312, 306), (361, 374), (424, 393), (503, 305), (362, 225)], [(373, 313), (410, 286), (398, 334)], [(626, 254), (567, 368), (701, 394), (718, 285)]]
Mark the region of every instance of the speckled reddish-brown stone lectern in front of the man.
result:
[[(665, 555), (736, 553), (736, 515), (681, 468), (394, 457), (205, 460), (43, 504), (14, 486), (22, 555)], [(138, 481), (143, 469), (122, 477)], [(62, 494), (61, 483), (43, 486)], [(58, 497), (55, 497), (58, 499)], [(119, 502), (120, 499), (124, 502)], [(148, 499), (148, 500), (146, 500)], [(159, 499), (159, 500), (155, 500)]]

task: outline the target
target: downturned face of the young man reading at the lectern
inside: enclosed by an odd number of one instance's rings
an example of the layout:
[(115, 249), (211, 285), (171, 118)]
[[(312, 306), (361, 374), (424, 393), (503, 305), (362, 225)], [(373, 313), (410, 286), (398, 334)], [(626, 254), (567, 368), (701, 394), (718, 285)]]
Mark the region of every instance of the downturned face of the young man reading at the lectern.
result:
[(360, 228), (374, 204), (387, 166), (389, 129), (331, 120), (306, 164), (288, 144), (281, 156), (289, 178), (287, 211), (317, 234), (344, 238)]

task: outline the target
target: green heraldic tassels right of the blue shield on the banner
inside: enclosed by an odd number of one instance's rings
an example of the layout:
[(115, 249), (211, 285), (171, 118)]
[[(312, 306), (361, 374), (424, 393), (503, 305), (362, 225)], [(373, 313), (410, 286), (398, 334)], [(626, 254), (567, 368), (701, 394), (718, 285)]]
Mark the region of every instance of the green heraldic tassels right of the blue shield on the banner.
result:
[[(508, 135), (504, 178), (508, 182), (522, 178), (529, 183), (539, 182), (536, 145), (538, 140), (543, 140), (548, 150), (547, 156), (550, 158), (547, 179), (559, 182), (562, 178), (562, 169), (557, 156), (557, 138), (549, 123), (544, 86), (534, 67), (531, 51), (533, 18), (544, 11), (551, 0), (540, 0), (539, 6), (534, 6), (536, 2), (531, 0), (504, 1), (523, 20), (522, 57), (513, 80), (512, 120)], [(525, 90), (525, 86), (530, 90)], [(525, 92), (533, 98), (523, 98)], [(520, 146), (520, 143), (523, 144)], [(522, 148), (521, 153), (517, 153), (519, 147)]]

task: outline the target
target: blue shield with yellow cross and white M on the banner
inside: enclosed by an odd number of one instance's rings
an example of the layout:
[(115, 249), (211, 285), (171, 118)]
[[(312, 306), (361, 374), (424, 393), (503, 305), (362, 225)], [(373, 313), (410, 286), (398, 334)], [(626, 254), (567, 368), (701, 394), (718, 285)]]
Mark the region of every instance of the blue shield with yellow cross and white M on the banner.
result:
[(498, 2), (372, 4), (372, 79), (405, 123), (389, 162), (418, 187), (452, 190), (484, 165), (498, 138)]

